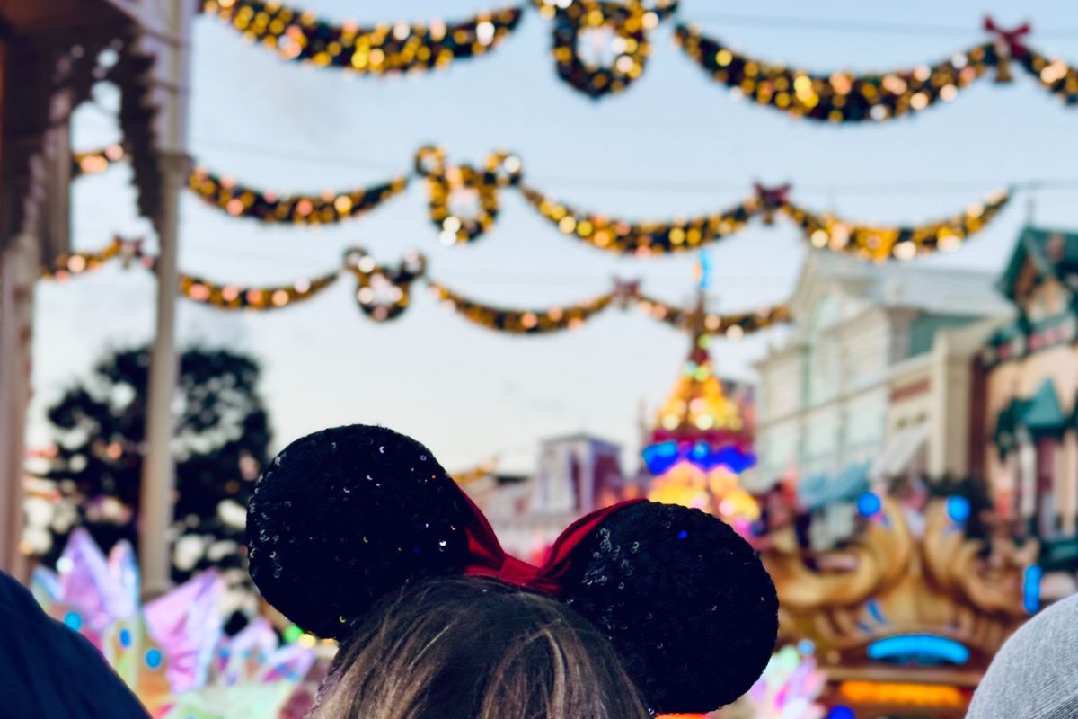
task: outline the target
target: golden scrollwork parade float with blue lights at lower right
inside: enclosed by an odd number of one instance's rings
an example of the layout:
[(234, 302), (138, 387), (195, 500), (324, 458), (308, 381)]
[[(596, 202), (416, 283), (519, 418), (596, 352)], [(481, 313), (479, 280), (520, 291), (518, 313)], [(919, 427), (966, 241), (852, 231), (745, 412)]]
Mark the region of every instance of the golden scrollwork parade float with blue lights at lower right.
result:
[(890, 498), (867, 493), (857, 507), (865, 528), (844, 549), (805, 552), (792, 522), (755, 538), (778, 590), (780, 638), (815, 646), (828, 717), (959, 719), (992, 656), (1038, 609), (1036, 542), (969, 538), (959, 496), (931, 500), (923, 533)]

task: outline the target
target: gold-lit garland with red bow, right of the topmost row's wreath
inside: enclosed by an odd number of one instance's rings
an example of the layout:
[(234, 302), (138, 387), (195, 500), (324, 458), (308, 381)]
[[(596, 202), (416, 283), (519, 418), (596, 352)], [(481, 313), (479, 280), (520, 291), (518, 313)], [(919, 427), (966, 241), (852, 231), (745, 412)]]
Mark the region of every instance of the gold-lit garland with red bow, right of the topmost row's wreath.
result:
[(992, 41), (935, 65), (886, 74), (792, 70), (738, 53), (687, 25), (677, 26), (674, 39), (716, 82), (760, 105), (810, 120), (846, 123), (900, 117), (940, 100), (953, 100), (990, 68), (995, 68), (996, 83), (1011, 82), (1012, 60), (1066, 105), (1078, 103), (1078, 70), (1026, 46), (1023, 38), (1032, 30), (1028, 24), (1005, 29), (986, 17), (984, 30), (994, 36)]

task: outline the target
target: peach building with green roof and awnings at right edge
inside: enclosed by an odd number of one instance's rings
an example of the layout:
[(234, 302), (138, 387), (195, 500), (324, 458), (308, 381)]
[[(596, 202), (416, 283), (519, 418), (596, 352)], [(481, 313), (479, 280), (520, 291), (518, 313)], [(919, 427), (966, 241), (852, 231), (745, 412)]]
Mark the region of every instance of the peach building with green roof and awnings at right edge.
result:
[[(1014, 319), (991, 335), (982, 356), (979, 469), (1011, 530), (1040, 540), (1047, 576), (1073, 578), (1078, 570), (1078, 232), (1025, 227), (998, 289), (1012, 303)], [(1069, 579), (1050, 594), (1075, 589)]]

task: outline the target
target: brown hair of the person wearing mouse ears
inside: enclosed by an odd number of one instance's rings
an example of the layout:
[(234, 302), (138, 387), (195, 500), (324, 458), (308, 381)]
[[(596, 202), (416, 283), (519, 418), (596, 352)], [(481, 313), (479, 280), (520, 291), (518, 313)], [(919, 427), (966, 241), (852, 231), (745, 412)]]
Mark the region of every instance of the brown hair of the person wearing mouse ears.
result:
[(648, 719), (613, 648), (555, 599), (487, 579), (395, 594), (342, 647), (312, 719)]

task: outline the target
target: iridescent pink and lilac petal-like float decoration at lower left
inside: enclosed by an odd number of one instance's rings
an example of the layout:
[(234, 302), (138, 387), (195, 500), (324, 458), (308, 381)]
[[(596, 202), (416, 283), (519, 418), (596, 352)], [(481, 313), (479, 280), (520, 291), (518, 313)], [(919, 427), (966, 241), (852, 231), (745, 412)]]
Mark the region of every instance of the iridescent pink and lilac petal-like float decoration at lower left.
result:
[[(310, 707), (314, 637), (295, 630), (281, 641), (263, 618), (226, 636), (224, 583), (215, 571), (141, 605), (130, 544), (106, 556), (79, 528), (56, 571), (34, 570), (31, 590), (50, 616), (101, 652), (154, 719), (284, 719)], [(305, 704), (299, 714), (296, 704)]]

